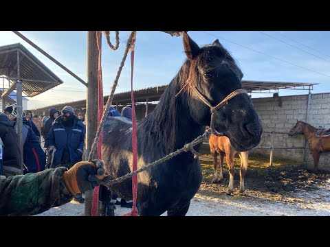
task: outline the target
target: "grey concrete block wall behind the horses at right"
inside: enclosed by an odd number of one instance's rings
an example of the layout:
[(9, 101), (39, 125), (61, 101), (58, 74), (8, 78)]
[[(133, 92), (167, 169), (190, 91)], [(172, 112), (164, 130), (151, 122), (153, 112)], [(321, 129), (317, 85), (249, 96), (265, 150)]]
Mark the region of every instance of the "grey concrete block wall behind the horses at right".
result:
[[(252, 99), (256, 111), (263, 123), (264, 131), (289, 132), (297, 120), (306, 122), (308, 95), (294, 95), (283, 97), (266, 97)], [(307, 123), (318, 128), (330, 128), (330, 93), (312, 94)], [(270, 146), (271, 134), (263, 134), (259, 146)], [(274, 135), (275, 147), (289, 148), (304, 147), (305, 137), (295, 135), (289, 137), (287, 134)], [(269, 156), (270, 150), (257, 150)], [(274, 150), (274, 157), (289, 158), (294, 161), (304, 161), (304, 150)], [(320, 169), (330, 170), (330, 152), (322, 153), (320, 156)], [(313, 158), (309, 152), (306, 154), (307, 167), (314, 167)]]

